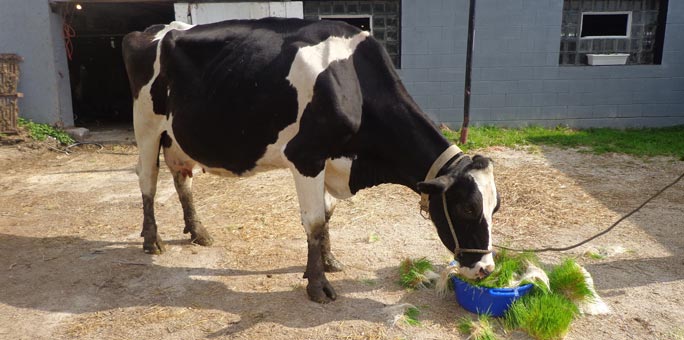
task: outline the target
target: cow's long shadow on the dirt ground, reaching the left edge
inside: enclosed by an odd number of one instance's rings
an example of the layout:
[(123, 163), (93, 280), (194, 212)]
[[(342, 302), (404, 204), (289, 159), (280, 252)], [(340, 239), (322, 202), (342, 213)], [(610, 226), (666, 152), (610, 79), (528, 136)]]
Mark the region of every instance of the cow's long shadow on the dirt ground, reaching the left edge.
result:
[[(186, 244), (182, 247), (192, 246)], [(171, 267), (155, 264), (156, 261), (159, 261), (158, 257), (142, 252), (139, 242), (0, 234), (0, 268), (8, 273), (0, 276), (0, 287), (3, 287), (0, 303), (70, 314), (137, 306), (218, 310), (227, 319), (220, 330), (213, 333), (215, 336), (236, 334), (262, 322), (292, 328), (315, 327), (343, 320), (384, 323), (403, 310), (395, 307), (404, 303), (424, 303), (424, 297), (412, 294), (405, 294), (391, 305), (373, 298), (371, 291), (376, 289), (402, 289), (396, 284), (395, 267), (373, 272), (378, 278), (373, 285), (363, 280), (329, 276), (339, 297), (333, 303), (321, 305), (307, 299), (305, 280), (294, 287), (276, 284), (271, 291), (235, 288), (230, 286), (229, 279), (222, 280), (225, 277), (253, 276), (256, 285), (259, 280), (277, 280), (281, 275), (301, 278), (303, 266), (273, 266), (248, 271)], [(437, 297), (435, 300), (440, 301)], [(441, 301), (453, 305), (455, 313), (450, 317), (466, 314), (456, 307), (455, 301)], [(439, 316), (435, 315), (435, 318), (439, 319)]]

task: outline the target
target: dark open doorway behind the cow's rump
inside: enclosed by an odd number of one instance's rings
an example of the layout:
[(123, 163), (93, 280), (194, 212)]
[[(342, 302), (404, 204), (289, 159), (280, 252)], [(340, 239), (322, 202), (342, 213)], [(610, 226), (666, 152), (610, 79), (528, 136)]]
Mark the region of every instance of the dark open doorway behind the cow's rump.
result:
[(66, 43), (75, 124), (91, 128), (130, 124), (133, 105), (121, 41), (129, 32), (173, 21), (173, 3), (71, 2), (65, 6), (65, 32), (71, 33)]

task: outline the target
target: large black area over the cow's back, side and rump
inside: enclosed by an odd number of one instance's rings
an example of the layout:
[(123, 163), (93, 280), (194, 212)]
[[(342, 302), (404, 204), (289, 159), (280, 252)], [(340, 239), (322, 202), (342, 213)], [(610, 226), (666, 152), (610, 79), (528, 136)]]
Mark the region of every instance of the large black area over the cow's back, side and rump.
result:
[(125, 39), (134, 96), (151, 83), (153, 111), (165, 116), (173, 142), (203, 166), (236, 174), (254, 169), (269, 145), (278, 149), (281, 132), (297, 121), (297, 89), (287, 79), (297, 52), (360, 32), (335, 22), (231, 20), (170, 30), (157, 53), (152, 39), (161, 31)]

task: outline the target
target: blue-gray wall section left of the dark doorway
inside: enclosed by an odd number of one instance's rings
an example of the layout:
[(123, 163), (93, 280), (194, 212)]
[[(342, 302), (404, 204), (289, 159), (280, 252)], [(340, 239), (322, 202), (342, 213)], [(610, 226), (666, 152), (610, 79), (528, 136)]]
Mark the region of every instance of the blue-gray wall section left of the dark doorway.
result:
[(73, 126), (61, 17), (50, 11), (47, 1), (2, 0), (0, 7), (0, 53), (24, 58), (19, 116)]

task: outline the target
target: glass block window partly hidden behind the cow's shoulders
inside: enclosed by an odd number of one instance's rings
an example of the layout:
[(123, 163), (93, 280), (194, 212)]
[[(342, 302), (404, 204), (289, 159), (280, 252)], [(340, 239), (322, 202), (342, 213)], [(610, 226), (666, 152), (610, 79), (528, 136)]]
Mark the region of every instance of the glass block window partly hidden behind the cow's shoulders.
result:
[(394, 67), (400, 68), (401, 0), (304, 0), (304, 19), (342, 20), (369, 30), (385, 46)]

